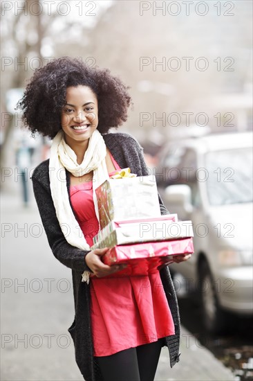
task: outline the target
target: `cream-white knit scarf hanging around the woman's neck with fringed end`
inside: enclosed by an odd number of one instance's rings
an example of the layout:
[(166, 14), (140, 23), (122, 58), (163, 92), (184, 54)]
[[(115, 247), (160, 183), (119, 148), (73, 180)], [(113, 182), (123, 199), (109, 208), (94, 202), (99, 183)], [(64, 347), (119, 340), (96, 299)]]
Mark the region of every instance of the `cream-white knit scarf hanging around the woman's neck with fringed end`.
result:
[[(82, 250), (89, 250), (90, 247), (71, 209), (66, 186), (65, 168), (75, 177), (93, 171), (93, 200), (95, 214), (97, 220), (99, 220), (95, 189), (106, 179), (109, 179), (105, 158), (106, 145), (102, 135), (97, 130), (93, 132), (89, 139), (88, 148), (81, 164), (77, 163), (77, 155), (66, 143), (63, 130), (57, 133), (51, 145), (49, 159), (50, 190), (57, 219), (68, 243)], [(89, 272), (82, 274), (82, 281), (88, 283)]]

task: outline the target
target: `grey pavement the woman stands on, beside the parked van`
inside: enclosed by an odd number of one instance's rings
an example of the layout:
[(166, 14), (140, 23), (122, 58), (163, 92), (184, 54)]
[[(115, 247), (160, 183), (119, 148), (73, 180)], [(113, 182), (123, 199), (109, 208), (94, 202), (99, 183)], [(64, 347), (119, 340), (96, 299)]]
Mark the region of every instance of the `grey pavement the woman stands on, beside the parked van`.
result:
[[(1, 228), (1, 380), (82, 381), (67, 332), (74, 314), (71, 272), (51, 254), (35, 201), (24, 209), (14, 189), (3, 193)], [(234, 380), (184, 327), (180, 352), (171, 369), (162, 348), (156, 381)]]

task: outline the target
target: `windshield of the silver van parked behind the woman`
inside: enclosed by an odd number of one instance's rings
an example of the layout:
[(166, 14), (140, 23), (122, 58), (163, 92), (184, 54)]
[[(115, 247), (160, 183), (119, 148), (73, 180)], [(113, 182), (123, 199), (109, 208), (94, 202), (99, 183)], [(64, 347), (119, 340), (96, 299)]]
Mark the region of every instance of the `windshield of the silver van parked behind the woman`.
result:
[(207, 195), (211, 205), (252, 202), (252, 149), (209, 152)]

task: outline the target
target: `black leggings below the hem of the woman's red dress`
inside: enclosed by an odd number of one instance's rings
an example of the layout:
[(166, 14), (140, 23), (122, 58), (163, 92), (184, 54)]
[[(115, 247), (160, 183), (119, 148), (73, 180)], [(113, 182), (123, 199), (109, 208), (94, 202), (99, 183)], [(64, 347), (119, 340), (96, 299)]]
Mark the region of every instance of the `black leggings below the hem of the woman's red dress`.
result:
[(104, 381), (153, 381), (162, 339), (125, 349), (111, 356), (96, 357)]

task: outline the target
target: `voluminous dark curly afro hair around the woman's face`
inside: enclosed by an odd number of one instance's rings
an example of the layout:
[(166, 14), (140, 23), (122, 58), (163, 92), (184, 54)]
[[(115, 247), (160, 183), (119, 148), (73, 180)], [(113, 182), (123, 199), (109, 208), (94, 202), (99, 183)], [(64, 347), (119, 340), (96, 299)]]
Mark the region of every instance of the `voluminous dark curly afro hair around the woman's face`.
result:
[(53, 139), (61, 130), (61, 112), (66, 104), (66, 88), (88, 86), (97, 96), (97, 130), (106, 133), (127, 121), (131, 104), (129, 87), (111, 75), (109, 69), (88, 67), (82, 60), (61, 57), (37, 69), (17, 107), (23, 111), (24, 125), (35, 134)]

